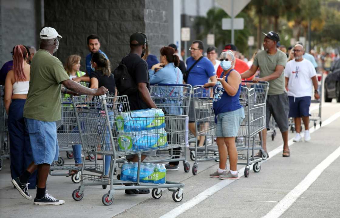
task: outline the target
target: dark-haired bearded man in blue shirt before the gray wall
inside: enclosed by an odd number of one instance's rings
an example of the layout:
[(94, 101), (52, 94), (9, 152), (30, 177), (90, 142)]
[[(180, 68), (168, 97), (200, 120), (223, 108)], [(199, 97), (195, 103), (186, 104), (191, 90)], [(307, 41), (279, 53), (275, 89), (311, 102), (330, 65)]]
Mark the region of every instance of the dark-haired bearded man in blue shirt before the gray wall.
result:
[(97, 36), (97, 35), (89, 35), (87, 37), (87, 47), (88, 47), (88, 50), (91, 53), (89, 53), (86, 56), (86, 58), (85, 58), (86, 75), (84, 75), (82, 77), (73, 78), (72, 80), (74, 80), (75, 82), (81, 82), (81, 81), (90, 82), (90, 74), (92, 72), (94, 72), (94, 70), (92, 70), (92, 68), (91, 68), (91, 59), (92, 59), (92, 55), (94, 53), (99, 52), (99, 53), (103, 54), (105, 56), (105, 58), (108, 59), (106, 54), (100, 50), (99, 36)]

